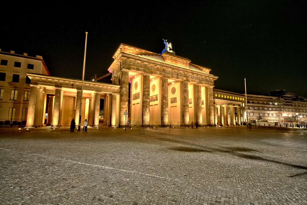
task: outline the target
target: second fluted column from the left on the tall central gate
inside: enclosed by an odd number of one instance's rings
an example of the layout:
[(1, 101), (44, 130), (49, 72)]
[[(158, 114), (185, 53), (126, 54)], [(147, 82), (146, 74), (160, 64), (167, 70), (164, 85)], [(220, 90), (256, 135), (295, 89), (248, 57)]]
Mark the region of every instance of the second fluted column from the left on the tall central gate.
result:
[(149, 125), (149, 109), (150, 109), (150, 73), (143, 74), (143, 97), (142, 97), (142, 127), (150, 127)]

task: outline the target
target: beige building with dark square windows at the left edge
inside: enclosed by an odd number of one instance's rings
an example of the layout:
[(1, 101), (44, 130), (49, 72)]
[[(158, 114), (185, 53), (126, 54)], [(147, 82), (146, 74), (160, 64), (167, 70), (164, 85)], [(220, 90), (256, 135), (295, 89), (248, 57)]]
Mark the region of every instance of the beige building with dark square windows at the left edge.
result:
[(41, 56), (0, 49), (0, 121), (27, 120), (31, 80), (26, 73), (50, 75)]

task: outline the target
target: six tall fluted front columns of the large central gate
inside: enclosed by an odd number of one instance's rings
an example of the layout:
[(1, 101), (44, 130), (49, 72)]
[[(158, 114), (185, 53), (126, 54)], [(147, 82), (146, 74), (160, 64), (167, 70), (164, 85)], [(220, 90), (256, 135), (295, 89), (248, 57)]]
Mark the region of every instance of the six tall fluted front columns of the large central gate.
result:
[[(128, 89), (129, 89), (129, 70), (121, 70), (121, 89), (120, 89), (120, 126), (125, 125), (125, 116), (123, 113), (128, 110)], [(143, 73), (143, 90), (142, 90), (142, 126), (150, 126), (150, 73)], [(168, 126), (168, 79), (167, 77), (161, 77), (161, 126)], [(183, 125), (189, 125), (189, 104), (188, 104), (188, 83), (189, 81), (183, 81), (183, 101), (182, 101), (182, 113), (183, 113)], [(203, 124), (202, 115), (202, 96), (201, 96), (201, 84), (196, 85), (196, 121), (199, 125)], [(208, 102), (206, 103), (209, 111), (208, 124), (214, 125), (214, 106), (213, 106), (213, 86), (208, 86)]]

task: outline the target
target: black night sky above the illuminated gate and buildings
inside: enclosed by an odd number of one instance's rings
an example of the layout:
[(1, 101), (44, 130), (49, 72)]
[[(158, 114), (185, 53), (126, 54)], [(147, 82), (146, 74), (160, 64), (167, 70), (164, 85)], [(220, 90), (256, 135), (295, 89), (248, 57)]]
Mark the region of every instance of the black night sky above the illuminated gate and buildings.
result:
[[(85, 80), (107, 73), (120, 43), (176, 55), (212, 69), (216, 89), (307, 97), (303, 1), (107, 1), (9, 3), (2, 7), (0, 49), (41, 55), (54, 76)], [(108, 79), (105, 82), (111, 83)]]

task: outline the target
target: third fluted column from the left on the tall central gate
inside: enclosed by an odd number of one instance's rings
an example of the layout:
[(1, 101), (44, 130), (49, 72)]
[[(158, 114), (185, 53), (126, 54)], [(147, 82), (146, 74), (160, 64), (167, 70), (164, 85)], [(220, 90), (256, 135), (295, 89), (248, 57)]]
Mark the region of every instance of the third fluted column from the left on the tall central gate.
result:
[(167, 127), (169, 125), (169, 93), (168, 93), (168, 78), (162, 77), (161, 89), (161, 126)]

